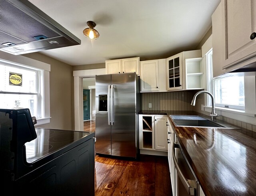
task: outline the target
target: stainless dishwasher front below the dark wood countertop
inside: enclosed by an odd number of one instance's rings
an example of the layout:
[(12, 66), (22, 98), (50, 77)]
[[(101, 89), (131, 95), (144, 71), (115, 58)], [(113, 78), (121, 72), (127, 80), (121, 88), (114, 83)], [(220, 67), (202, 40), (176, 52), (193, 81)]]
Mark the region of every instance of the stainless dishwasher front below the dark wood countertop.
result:
[(190, 168), (177, 138), (172, 146), (172, 158), (176, 169), (176, 196), (199, 195), (198, 180)]

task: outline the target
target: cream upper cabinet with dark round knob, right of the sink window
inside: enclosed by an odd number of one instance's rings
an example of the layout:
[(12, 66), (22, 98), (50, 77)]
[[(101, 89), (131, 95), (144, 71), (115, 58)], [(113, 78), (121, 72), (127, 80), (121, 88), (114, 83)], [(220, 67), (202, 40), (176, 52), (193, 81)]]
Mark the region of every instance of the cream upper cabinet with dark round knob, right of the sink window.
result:
[(222, 0), (212, 15), (214, 77), (256, 62), (254, 0)]

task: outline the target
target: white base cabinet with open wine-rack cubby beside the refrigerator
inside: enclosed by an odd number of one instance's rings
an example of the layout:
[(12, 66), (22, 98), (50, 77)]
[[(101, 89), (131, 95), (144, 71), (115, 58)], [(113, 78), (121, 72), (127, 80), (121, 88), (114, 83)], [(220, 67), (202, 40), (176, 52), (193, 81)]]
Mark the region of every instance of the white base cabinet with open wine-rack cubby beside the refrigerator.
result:
[(139, 114), (140, 149), (167, 152), (166, 123), (166, 115)]

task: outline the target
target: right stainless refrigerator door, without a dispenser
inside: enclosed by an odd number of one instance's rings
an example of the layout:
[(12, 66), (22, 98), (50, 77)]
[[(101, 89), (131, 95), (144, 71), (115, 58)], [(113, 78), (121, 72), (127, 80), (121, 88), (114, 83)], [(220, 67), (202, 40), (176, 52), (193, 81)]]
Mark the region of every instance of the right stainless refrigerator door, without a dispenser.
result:
[(112, 155), (136, 157), (135, 74), (112, 74)]

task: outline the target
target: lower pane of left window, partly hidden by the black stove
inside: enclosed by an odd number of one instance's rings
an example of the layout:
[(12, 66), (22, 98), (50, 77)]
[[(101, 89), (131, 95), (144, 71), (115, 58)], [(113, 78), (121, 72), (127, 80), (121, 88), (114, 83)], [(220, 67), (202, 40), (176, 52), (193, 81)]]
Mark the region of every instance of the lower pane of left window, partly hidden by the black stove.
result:
[(31, 116), (38, 116), (37, 95), (0, 94), (0, 108), (29, 108)]

